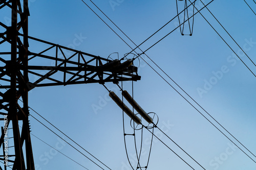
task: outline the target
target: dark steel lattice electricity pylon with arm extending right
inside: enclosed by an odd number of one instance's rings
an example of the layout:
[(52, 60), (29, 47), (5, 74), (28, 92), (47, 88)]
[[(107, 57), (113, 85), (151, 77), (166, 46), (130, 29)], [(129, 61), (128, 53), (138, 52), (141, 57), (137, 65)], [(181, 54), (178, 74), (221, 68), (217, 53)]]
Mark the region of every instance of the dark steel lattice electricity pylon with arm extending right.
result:
[[(30, 37), (28, 0), (0, 1), (11, 10), (11, 26), (0, 21), (0, 169), (35, 169), (30, 139), (28, 92), (35, 87), (137, 81), (132, 60), (120, 62)], [(6, 15), (8, 16), (8, 15)], [(40, 52), (29, 43), (47, 46)], [(2, 164), (1, 164), (2, 163)]]

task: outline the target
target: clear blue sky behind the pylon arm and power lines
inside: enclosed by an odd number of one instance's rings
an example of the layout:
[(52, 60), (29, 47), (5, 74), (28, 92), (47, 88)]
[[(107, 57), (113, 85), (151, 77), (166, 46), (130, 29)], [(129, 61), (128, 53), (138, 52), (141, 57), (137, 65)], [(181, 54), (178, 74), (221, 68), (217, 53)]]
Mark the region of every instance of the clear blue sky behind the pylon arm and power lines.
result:
[[(36, 1), (30, 2), (29, 35), (73, 47), (93, 55), (107, 58), (118, 53), (119, 58), (131, 52), (113, 31), (111, 31), (86, 5), (76, 1)], [(84, 1), (93, 8), (110, 26), (121, 35), (90, 1)], [(93, 1), (108, 15), (120, 29), (136, 44), (161, 28), (177, 15), (176, 1), (134, 1), (108, 0)], [(203, 1), (206, 4), (209, 0)], [(256, 4), (247, 0), (256, 11)], [(178, 2), (183, 6), (184, 2)], [(202, 7), (196, 3), (197, 7)], [(208, 6), (228, 33), (256, 63), (256, 16), (246, 3), (239, 1), (215, 0)], [(189, 11), (191, 9), (189, 8)], [(256, 67), (241, 53), (240, 48), (206, 9), (203, 16), (239, 54), (245, 64), (256, 74)], [(177, 25), (176, 18), (158, 34), (141, 45), (145, 51)], [(185, 25), (187, 29), (188, 25)], [(185, 30), (187, 31), (187, 30)], [(121, 35), (127, 43), (135, 47)], [(80, 38), (77, 38), (80, 37)], [(79, 40), (79, 41), (77, 41)], [(30, 51), (41, 47), (30, 42)], [(136, 51), (141, 53), (141, 51)], [(193, 36), (182, 36), (177, 29), (146, 52), (180, 87), (182, 87), (212, 117), (236, 137), (245, 147), (256, 155), (256, 78), (246, 66), (233, 55), (233, 52), (209, 26), (200, 14), (195, 15)], [(53, 54), (54, 55), (54, 54)], [(146, 56), (142, 55), (146, 59)], [(113, 55), (113, 58), (117, 56)], [(191, 102), (203, 115), (212, 119), (164, 75), (149, 59), (146, 59), (159, 73)], [(135, 60), (135, 65), (139, 61)], [(50, 63), (48, 63), (50, 64)], [(242, 151), (234, 147), (221, 132), (212, 126), (195, 108), (186, 102), (156, 72), (140, 60), (141, 80), (134, 82), (134, 99), (146, 112), (155, 112), (159, 117), (158, 127), (165, 131), (191, 157), (204, 168), (212, 169), (256, 169), (256, 163)], [(117, 91), (113, 83), (105, 84)], [(123, 89), (132, 93), (132, 82), (123, 83)], [(121, 109), (108, 97), (108, 91), (100, 84), (70, 85), (58, 87), (40, 87), (29, 92), (29, 106), (44, 116), (49, 122), (70, 136), (84, 149), (93, 154), (111, 169), (132, 169), (127, 164), (123, 140)], [(120, 91), (117, 95), (121, 97)], [(132, 108), (129, 105), (130, 108)], [(96, 108), (96, 109), (95, 109)], [(31, 115), (57, 132), (45, 120), (32, 110)], [(130, 118), (125, 115), (125, 131), (132, 133)], [(48, 129), (30, 117), (32, 134), (59, 149), (88, 169), (100, 169), (89, 159), (60, 140)], [(219, 125), (232, 141), (246, 152), (254, 161), (256, 157), (234, 140)], [(195, 169), (203, 169), (176, 145), (155, 129), (155, 134), (173, 149), (180, 157)], [(141, 166), (146, 165), (150, 132), (143, 130), (143, 154)], [(64, 137), (67, 139), (67, 137)], [(140, 131), (136, 132), (137, 146), (140, 143)], [(42, 169), (84, 169), (65, 156), (57, 153), (34, 136), (31, 137), (34, 161), (37, 170)], [(67, 139), (70, 141), (69, 139)], [(76, 146), (72, 141), (70, 141)], [(127, 137), (128, 155), (131, 163), (136, 161), (134, 139)], [(76, 148), (79, 148), (76, 146)], [(88, 153), (84, 155), (108, 169)], [(134, 165), (135, 167), (135, 165)], [(142, 168), (143, 169), (143, 168)], [(163, 143), (154, 138), (148, 170), (152, 169), (191, 169)]]

